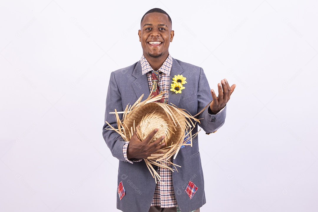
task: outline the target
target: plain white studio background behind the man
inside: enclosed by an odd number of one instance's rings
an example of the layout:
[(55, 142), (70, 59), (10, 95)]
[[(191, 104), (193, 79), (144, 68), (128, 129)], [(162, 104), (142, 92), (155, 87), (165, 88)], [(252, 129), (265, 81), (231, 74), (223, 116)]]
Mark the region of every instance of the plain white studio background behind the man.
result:
[(117, 211), (108, 80), (141, 58), (140, 20), (154, 7), (172, 19), (172, 57), (201, 66), (215, 90), (237, 85), (224, 126), (199, 134), (201, 211), (316, 211), (309, 0), (2, 1), (0, 211)]

